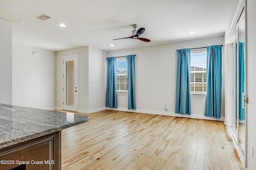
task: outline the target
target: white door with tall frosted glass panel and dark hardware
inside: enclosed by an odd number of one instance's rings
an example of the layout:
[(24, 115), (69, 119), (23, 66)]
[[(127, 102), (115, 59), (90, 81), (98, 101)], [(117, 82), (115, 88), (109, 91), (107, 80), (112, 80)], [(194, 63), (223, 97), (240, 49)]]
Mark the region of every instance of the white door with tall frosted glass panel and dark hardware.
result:
[(63, 57), (63, 110), (77, 111), (78, 56)]

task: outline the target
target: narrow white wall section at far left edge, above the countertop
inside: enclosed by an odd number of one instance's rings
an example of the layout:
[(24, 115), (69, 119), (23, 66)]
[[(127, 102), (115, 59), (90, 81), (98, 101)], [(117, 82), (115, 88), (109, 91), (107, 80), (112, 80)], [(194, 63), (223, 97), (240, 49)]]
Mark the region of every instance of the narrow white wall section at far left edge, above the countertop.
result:
[(0, 103), (12, 104), (12, 23), (0, 19)]

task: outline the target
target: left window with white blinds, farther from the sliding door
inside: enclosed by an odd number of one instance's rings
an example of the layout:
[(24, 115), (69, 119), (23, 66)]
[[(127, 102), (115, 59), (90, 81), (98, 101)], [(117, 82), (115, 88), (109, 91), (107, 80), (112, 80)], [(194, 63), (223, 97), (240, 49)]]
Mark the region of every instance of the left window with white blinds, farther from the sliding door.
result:
[(128, 92), (128, 76), (126, 59), (116, 59), (116, 91)]

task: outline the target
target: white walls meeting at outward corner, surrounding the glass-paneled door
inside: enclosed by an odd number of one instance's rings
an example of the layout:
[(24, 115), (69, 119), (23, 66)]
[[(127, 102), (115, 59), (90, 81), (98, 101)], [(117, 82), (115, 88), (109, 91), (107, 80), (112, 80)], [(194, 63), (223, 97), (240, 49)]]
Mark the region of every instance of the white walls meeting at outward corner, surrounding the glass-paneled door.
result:
[(62, 57), (74, 54), (78, 54), (78, 111), (92, 113), (106, 109), (104, 104), (106, 52), (94, 47), (80, 47), (56, 52), (56, 107), (62, 109), (63, 102)]

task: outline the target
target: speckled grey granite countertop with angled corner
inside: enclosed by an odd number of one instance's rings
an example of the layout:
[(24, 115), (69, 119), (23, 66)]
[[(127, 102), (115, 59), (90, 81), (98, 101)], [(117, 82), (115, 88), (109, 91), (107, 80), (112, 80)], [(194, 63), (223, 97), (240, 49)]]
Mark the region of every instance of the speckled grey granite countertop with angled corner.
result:
[(87, 115), (0, 104), (0, 149), (87, 121)]

